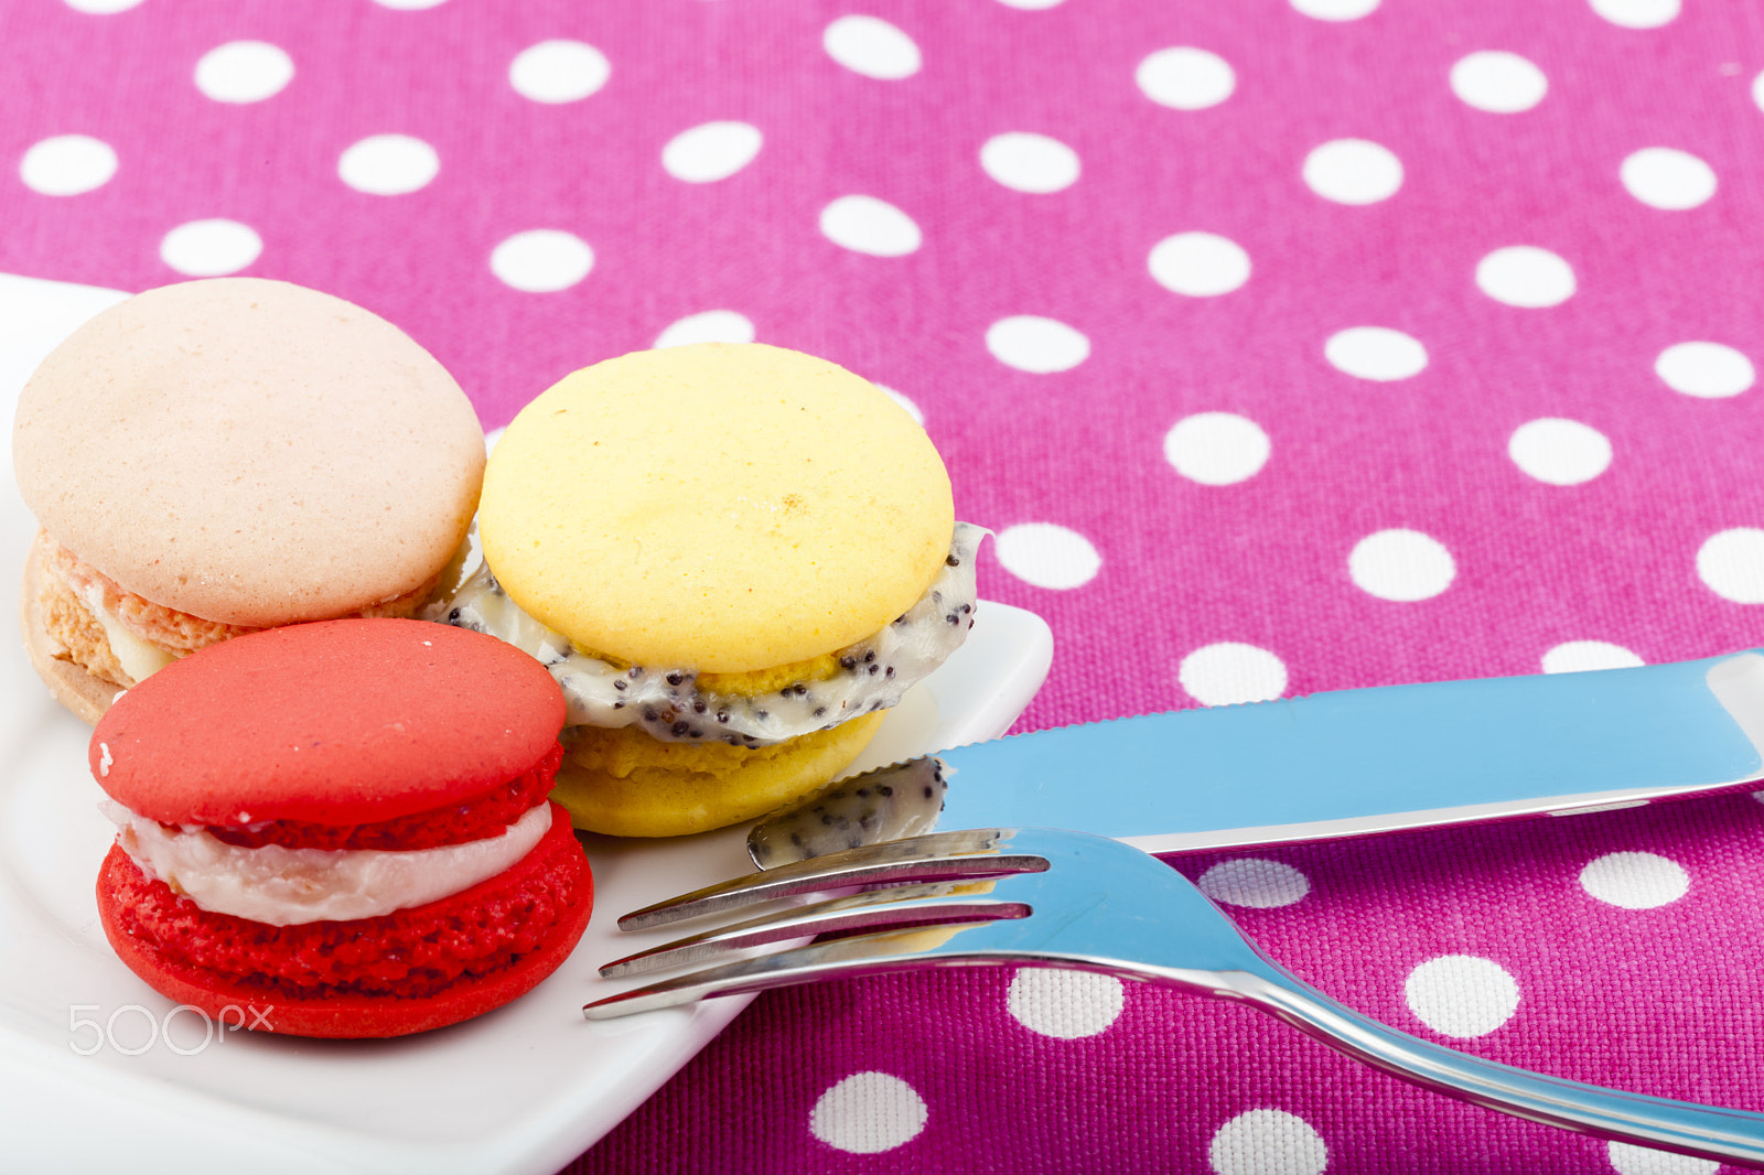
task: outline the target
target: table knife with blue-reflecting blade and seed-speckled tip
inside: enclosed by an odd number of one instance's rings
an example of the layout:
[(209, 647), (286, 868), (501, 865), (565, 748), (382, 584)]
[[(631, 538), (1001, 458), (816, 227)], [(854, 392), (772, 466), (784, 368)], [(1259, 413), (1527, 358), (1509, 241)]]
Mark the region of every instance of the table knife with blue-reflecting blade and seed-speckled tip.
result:
[(762, 819), (771, 868), (954, 827), (1064, 827), (1147, 852), (1570, 815), (1764, 778), (1764, 651), (1335, 690), (970, 743)]

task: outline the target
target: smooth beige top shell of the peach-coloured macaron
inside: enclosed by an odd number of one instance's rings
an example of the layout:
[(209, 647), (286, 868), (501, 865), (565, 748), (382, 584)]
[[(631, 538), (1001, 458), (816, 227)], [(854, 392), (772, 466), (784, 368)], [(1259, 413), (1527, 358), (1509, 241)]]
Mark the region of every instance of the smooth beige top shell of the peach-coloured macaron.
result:
[(37, 520), (122, 588), (270, 626), (434, 577), (476, 508), (483, 432), (392, 323), (229, 277), (74, 332), (19, 393), (12, 460)]

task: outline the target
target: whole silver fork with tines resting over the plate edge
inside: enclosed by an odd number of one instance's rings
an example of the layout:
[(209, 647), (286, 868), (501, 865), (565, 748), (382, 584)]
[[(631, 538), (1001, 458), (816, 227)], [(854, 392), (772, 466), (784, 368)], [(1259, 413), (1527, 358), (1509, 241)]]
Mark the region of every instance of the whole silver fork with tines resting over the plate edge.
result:
[(591, 1020), (815, 979), (972, 963), (1076, 967), (1244, 1000), (1376, 1069), (1572, 1131), (1764, 1164), (1764, 1115), (1565, 1081), (1385, 1027), (1267, 960), (1182, 873), (1117, 840), (974, 829), (868, 845), (737, 877), (619, 919), (644, 930), (760, 902), (852, 889), (602, 967), (628, 976), (737, 958), (587, 1004)]

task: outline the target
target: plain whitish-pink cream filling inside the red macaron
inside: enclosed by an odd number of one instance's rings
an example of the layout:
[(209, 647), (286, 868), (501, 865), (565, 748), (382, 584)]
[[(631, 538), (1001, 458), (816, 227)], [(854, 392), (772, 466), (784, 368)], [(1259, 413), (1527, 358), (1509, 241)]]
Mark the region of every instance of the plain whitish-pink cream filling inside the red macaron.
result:
[(168, 831), (115, 801), (101, 805), (116, 843), (152, 877), (212, 914), (270, 926), (379, 917), (439, 902), (513, 866), (550, 829), (550, 805), (499, 836), (436, 849), (243, 849), (201, 826)]

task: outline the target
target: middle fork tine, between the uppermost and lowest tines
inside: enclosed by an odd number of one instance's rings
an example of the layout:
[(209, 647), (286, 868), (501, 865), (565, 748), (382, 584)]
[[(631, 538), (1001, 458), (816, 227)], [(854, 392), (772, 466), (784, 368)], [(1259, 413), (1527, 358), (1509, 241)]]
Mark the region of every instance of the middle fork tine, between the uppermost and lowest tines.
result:
[(937, 882), (926, 886), (891, 886), (868, 893), (829, 898), (813, 905), (790, 907), (743, 923), (706, 930), (665, 942), (637, 954), (614, 960), (600, 969), (602, 976), (635, 976), (667, 967), (699, 963), (720, 958), (744, 947), (808, 939), (834, 932), (878, 932), (901, 923), (937, 919), (940, 924), (1025, 917), (1028, 905), (990, 896), (993, 884)]

